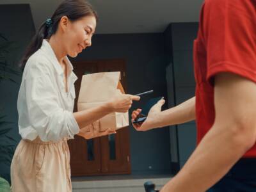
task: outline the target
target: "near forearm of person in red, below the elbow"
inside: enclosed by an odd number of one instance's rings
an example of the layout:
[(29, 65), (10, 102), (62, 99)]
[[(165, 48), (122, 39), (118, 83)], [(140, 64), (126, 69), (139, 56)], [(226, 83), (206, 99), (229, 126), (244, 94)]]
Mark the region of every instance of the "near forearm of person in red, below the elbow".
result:
[(228, 129), (228, 125), (214, 125), (179, 174), (161, 192), (203, 192), (218, 182), (253, 145), (246, 143), (249, 134)]

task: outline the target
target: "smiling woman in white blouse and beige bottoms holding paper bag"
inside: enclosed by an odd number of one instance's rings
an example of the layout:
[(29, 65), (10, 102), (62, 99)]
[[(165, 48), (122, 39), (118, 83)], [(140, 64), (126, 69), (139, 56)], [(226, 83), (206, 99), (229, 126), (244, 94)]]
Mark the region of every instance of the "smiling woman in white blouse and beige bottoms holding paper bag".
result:
[[(67, 140), (90, 127), (85, 138), (115, 133), (92, 129), (108, 113), (126, 112), (140, 97), (117, 95), (102, 106), (72, 113), (77, 77), (67, 58), (92, 45), (97, 14), (83, 0), (63, 1), (40, 27), (22, 61), (18, 97), (22, 136), (11, 165), (12, 191), (72, 191)], [(83, 129), (84, 130), (84, 129)]]

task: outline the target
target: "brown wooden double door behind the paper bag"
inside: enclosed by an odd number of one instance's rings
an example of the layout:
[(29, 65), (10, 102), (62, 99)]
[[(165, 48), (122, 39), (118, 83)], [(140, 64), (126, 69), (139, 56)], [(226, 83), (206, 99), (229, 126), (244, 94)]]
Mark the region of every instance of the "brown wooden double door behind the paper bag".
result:
[[(74, 111), (77, 111), (77, 98), (84, 74), (120, 71), (121, 82), (126, 90), (124, 60), (81, 61), (73, 62), (73, 65), (78, 77)], [(129, 127), (118, 130), (116, 134), (92, 140), (75, 136), (74, 140), (68, 141), (68, 145), (72, 176), (131, 173)]]

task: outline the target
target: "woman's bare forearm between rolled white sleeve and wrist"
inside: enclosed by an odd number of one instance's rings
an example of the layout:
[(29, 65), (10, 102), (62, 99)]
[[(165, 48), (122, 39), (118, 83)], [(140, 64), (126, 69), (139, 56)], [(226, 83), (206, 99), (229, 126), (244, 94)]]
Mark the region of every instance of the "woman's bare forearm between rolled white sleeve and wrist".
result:
[(96, 108), (75, 112), (73, 115), (80, 129), (82, 129), (112, 112), (110, 104), (106, 103)]

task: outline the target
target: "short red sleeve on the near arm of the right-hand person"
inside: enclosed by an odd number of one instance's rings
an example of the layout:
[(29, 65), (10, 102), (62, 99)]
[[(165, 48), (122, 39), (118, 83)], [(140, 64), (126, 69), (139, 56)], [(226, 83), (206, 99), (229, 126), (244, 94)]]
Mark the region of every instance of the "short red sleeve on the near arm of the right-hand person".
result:
[(232, 72), (256, 82), (256, 3), (205, 1), (202, 34), (207, 52), (207, 80)]

